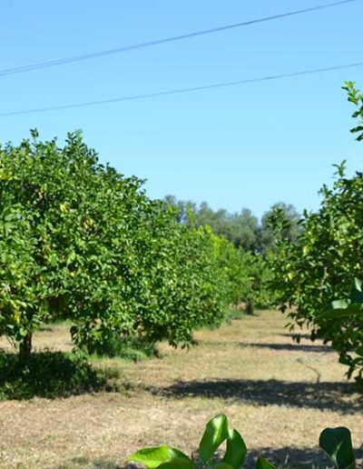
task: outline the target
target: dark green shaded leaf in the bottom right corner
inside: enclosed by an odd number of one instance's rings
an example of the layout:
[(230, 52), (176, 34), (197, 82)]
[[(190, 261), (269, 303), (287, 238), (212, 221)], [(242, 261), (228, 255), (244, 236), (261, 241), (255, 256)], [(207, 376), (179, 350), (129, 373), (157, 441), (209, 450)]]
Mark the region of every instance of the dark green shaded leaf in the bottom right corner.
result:
[(356, 469), (356, 460), (348, 428), (326, 428), (319, 437), (319, 445), (337, 469)]

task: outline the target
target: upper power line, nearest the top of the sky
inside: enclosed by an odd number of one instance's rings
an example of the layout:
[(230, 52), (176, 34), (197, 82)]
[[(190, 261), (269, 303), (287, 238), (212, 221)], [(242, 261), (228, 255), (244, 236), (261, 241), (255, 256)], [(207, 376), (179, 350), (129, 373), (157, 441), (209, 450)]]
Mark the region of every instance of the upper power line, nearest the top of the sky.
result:
[(162, 45), (162, 44), (167, 44), (167, 43), (172, 43), (176, 41), (182, 41), (184, 39), (189, 39), (191, 37), (196, 37), (200, 35), (211, 35), (213, 33), (220, 33), (221, 31), (226, 31), (228, 29), (234, 29), (242, 26), (249, 26), (249, 25), (255, 25), (257, 23), (264, 23), (272, 20), (277, 20), (281, 18), (286, 18), (289, 16), (294, 16), (294, 15), (302, 15), (304, 13), (310, 13), (314, 12), (317, 10), (323, 10), (326, 8), (331, 8), (333, 6), (338, 6), (338, 5), (347, 5), (351, 4), (353, 2), (356, 2), (357, 0), (341, 0), (338, 2), (334, 2), (331, 4), (327, 5), (319, 5), (319, 6), (312, 6), (309, 8), (304, 8), (301, 10), (295, 10), (287, 13), (282, 13), (280, 15), (272, 15), (272, 16), (266, 16), (263, 18), (258, 18), (258, 19), (253, 19), (250, 21), (244, 21), (240, 23), (234, 23), (232, 25), (223, 25), (219, 27), (214, 27), (211, 29), (204, 29), (201, 31), (194, 31), (191, 33), (185, 33), (183, 35), (174, 35), (171, 37), (164, 37), (163, 39), (157, 39), (154, 41), (147, 41), (143, 43), (138, 43), (134, 45), (123, 45), (120, 47), (115, 47), (113, 49), (105, 49), (102, 51), (97, 51), (97, 52), (91, 52), (89, 54), (83, 54), (83, 55), (73, 55), (70, 57), (64, 57), (56, 60), (50, 60), (46, 62), (39, 62), (37, 64), (31, 64), (31, 65), (23, 65), (23, 66), (18, 66), (14, 68), (5, 68), (3, 70), (0, 70), (0, 76), (5, 76), (5, 75), (15, 75), (15, 74), (22, 74), (25, 72), (33, 72), (34, 70), (39, 70), (42, 68), (48, 68), (52, 66), (59, 66), (59, 65), (66, 65), (66, 64), (72, 64), (74, 62), (82, 62), (83, 60), (90, 60), (93, 58), (98, 58), (98, 57), (103, 57), (105, 55), (113, 55), (113, 54), (121, 54), (123, 52), (130, 52), (132, 50), (136, 49), (143, 49), (146, 47), (152, 47), (154, 45)]

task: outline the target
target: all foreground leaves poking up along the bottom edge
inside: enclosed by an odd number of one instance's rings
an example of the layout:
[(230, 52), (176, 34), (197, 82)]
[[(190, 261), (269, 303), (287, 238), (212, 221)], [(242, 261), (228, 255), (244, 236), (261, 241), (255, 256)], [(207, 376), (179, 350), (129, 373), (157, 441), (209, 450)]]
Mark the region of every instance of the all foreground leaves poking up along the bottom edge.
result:
[[(217, 461), (216, 451), (226, 442), (226, 451)], [(356, 469), (356, 460), (348, 428), (326, 428), (319, 437), (319, 445), (329, 456), (337, 469)], [(229, 428), (226, 415), (216, 415), (205, 427), (199, 444), (201, 464), (191, 460), (182, 451), (162, 445), (143, 448), (128, 457), (128, 461), (141, 463), (149, 468), (196, 469), (198, 467), (216, 469), (240, 469), (247, 454), (247, 447), (240, 433)], [(262, 456), (256, 461), (256, 469), (276, 469)]]

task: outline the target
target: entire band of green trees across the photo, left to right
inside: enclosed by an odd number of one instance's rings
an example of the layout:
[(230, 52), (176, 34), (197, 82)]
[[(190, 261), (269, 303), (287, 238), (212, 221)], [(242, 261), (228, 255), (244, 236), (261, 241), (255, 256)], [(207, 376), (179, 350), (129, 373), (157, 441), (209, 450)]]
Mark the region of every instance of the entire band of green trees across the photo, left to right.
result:
[[(361, 141), (363, 95), (345, 89)], [(54, 318), (71, 320), (74, 344), (88, 352), (102, 353), (115, 337), (185, 345), (231, 304), (275, 303), (293, 306), (294, 323), (309, 324), (362, 380), (361, 282), (353, 309), (323, 312), (363, 276), (362, 173), (348, 177), (337, 165), (321, 195), (315, 213), (299, 219), (280, 204), (260, 224), (247, 209), (153, 201), (141, 180), (100, 165), (80, 133), (59, 146), (33, 131), (0, 147), (0, 335), (23, 358)]]

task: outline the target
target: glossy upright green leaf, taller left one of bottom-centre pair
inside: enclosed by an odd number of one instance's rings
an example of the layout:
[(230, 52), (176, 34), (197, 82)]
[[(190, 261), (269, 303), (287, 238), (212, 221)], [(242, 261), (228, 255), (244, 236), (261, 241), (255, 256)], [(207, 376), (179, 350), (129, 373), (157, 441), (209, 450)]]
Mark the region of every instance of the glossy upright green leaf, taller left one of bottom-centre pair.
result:
[(228, 420), (226, 415), (216, 415), (208, 422), (199, 445), (201, 461), (206, 464), (216, 449), (228, 437)]

